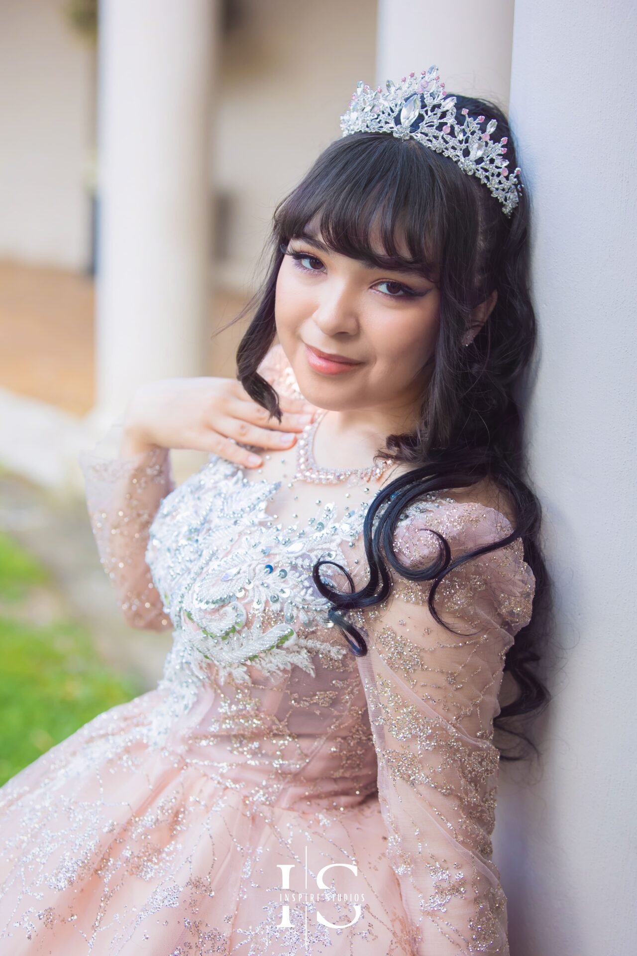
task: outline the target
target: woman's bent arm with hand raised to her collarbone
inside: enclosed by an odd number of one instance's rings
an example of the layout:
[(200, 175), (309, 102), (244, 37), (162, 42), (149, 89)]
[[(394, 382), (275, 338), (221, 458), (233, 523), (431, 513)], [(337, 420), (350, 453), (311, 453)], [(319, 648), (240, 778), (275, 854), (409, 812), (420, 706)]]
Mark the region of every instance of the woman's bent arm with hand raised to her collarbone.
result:
[(175, 488), (169, 449), (208, 450), (247, 465), (247, 451), (238, 442), (288, 446), (290, 440), (282, 442), (278, 429), (301, 430), (307, 424), (300, 414), (305, 403), (298, 401), (303, 397), (280, 345), (268, 351), (259, 372), (281, 394), (281, 424), (269, 419), (234, 379), (161, 380), (138, 389), (125, 421), (114, 424), (95, 449), (79, 455), (99, 557), (134, 627), (163, 631), (172, 626), (145, 556), (159, 505)]

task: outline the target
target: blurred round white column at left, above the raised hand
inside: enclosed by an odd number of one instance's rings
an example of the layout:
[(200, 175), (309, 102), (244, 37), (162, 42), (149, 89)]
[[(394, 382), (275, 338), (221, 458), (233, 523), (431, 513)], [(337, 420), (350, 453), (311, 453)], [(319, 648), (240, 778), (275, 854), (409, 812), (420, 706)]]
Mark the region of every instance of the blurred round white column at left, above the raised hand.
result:
[(94, 422), (139, 382), (204, 370), (216, 0), (99, 5)]

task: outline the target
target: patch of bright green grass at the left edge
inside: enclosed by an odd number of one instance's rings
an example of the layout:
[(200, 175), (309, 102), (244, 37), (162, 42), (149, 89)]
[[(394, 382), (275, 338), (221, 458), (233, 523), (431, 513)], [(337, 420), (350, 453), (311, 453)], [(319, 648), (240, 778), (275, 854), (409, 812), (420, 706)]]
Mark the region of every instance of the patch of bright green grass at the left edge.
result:
[(33, 589), (48, 584), (46, 570), (0, 532), (0, 785), (96, 714), (139, 692), (132, 679), (102, 663), (82, 625), (20, 618)]

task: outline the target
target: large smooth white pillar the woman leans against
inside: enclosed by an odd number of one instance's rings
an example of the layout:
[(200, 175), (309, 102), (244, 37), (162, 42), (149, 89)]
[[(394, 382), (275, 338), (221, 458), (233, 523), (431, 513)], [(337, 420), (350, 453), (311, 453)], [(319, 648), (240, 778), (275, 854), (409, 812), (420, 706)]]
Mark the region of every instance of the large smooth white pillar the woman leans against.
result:
[(516, 0), (511, 121), (534, 204), (528, 411), (557, 597), (540, 779), (505, 774), (511, 951), (635, 951), (637, 182), (630, 0)]

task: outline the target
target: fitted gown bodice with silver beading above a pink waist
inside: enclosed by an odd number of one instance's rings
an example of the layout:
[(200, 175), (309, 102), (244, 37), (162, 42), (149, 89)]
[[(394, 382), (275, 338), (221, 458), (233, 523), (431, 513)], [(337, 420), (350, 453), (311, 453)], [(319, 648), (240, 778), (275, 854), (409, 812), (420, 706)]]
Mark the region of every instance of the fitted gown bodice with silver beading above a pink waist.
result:
[(322, 502), (287, 524), (267, 511), (279, 488), (211, 456), (159, 508), (146, 557), (175, 631), (157, 739), (188, 712), (180, 748), (215, 768), (223, 748), (223, 774), (246, 802), (350, 805), (376, 790), (372, 730), (311, 569), (319, 554), (347, 563), (366, 508)]

